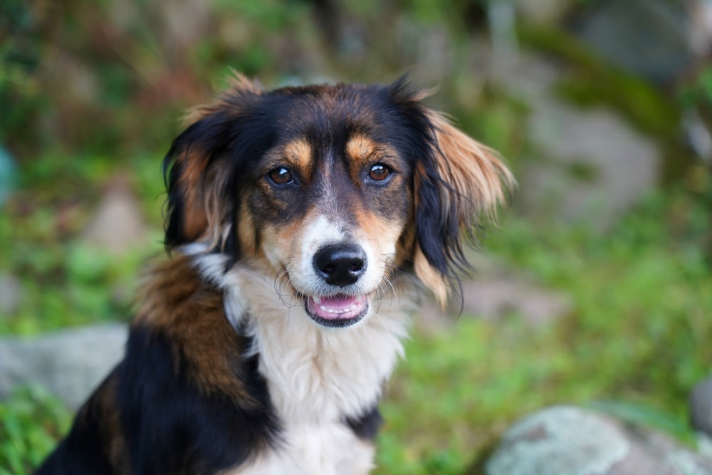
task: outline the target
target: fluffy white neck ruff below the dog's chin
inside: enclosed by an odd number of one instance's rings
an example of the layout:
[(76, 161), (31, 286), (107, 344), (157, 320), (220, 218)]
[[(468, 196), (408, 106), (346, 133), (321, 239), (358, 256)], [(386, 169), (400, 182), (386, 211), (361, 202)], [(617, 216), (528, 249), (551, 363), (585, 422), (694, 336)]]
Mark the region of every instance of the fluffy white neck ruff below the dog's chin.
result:
[(342, 423), (373, 409), (403, 352), (413, 301), (407, 283), (395, 281), (375, 314), (355, 327), (324, 328), (260, 263), (237, 263), (225, 272), (224, 256), (194, 259), (223, 289), (233, 327), (251, 337), (251, 354), (283, 424)]

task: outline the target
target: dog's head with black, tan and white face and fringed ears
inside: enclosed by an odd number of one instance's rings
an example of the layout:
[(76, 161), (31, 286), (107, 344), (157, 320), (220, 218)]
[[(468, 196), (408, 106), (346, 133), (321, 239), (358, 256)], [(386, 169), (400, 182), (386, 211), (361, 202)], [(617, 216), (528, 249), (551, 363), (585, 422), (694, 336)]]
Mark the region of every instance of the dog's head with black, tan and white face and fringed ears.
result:
[(261, 262), (329, 327), (371, 313), (397, 271), (444, 302), (463, 234), (512, 178), (423, 98), (404, 80), (267, 92), (238, 76), (165, 159), (167, 247)]

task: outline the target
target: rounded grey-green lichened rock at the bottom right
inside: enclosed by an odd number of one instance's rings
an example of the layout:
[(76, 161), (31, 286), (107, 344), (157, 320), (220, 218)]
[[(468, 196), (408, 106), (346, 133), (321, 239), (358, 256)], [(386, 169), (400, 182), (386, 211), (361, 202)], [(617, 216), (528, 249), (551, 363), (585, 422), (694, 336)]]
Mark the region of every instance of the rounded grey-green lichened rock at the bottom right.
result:
[(577, 407), (550, 407), (509, 429), (486, 475), (712, 475), (712, 461), (666, 435)]

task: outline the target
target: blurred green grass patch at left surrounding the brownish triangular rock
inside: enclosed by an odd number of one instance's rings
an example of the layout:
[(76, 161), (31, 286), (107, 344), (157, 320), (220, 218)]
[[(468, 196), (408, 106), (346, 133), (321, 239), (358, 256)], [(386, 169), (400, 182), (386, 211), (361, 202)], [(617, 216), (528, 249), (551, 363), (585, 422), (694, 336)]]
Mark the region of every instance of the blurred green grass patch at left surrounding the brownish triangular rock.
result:
[(162, 251), (162, 182), (159, 160), (136, 160), (135, 189), (151, 210), (155, 234), (140, 249), (114, 256), (79, 239), (111, 170), (100, 157), (54, 155), (21, 169), (22, 191), (0, 213), (0, 241), (12, 243), (0, 246), (0, 273), (17, 278), (22, 290), (17, 308), (0, 315), (0, 334), (130, 318), (140, 268)]

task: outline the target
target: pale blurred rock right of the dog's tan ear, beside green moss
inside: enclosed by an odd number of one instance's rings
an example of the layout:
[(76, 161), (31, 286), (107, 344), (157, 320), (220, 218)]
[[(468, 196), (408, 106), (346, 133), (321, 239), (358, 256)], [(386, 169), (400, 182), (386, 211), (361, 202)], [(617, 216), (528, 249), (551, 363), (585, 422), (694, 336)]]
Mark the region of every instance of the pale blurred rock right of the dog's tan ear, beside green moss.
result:
[(530, 108), (526, 129), (538, 157), (518, 174), (517, 200), (528, 214), (606, 229), (656, 189), (662, 153), (613, 110), (558, 98), (561, 75), (557, 64), (523, 53), (501, 78)]

